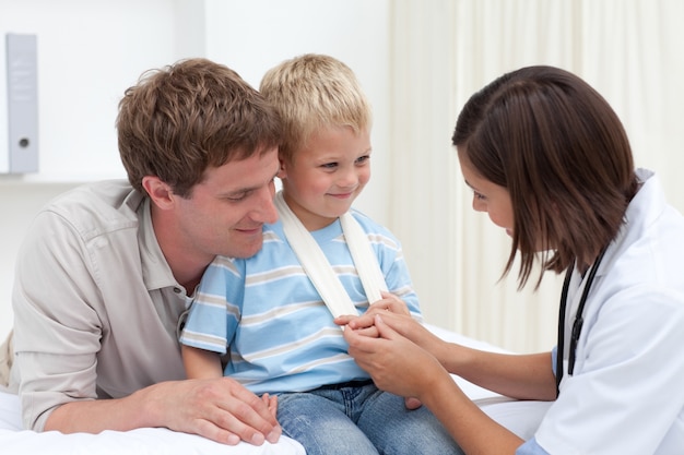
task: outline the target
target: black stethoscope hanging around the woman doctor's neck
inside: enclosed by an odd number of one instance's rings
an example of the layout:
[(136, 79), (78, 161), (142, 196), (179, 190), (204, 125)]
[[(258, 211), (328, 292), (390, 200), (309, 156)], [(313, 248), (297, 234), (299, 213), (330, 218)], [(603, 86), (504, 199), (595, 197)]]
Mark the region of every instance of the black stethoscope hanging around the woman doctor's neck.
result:
[[(573, 375), (575, 371), (575, 359), (577, 357), (577, 342), (579, 342), (579, 334), (582, 331), (583, 312), (585, 304), (587, 303), (587, 296), (589, 296), (589, 289), (591, 289), (591, 285), (593, 284), (593, 278), (597, 275), (597, 271), (599, 270), (599, 265), (601, 265), (601, 261), (603, 260), (603, 255), (605, 254), (604, 248), (601, 250), (601, 253), (597, 258), (595, 262), (591, 266), (589, 271), (589, 276), (587, 277), (587, 284), (585, 285), (585, 289), (582, 291), (582, 296), (579, 299), (579, 306), (577, 307), (577, 314), (575, 314), (575, 322), (573, 322), (573, 333), (570, 334), (570, 352), (568, 359), (568, 374)], [(565, 310), (567, 308), (567, 295), (570, 288), (570, 278), (573, 277), (573, 271), (575, 270), (575, 262), (570, 264), (567, 272), (565, 273), (565, 280), (563, 282), (563, 291), (561, 292), (561, 310), (558, 313), (558, 346), (556, 351), (556, 396), (559, 394), (561, 380), (563, 379), (563, 351), (565, 350)]]

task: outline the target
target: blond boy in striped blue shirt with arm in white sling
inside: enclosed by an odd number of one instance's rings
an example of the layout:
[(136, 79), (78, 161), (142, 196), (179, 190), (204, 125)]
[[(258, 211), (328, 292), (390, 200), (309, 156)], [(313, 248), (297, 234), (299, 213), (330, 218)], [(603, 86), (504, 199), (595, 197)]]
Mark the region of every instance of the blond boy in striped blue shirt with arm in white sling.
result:
[[(354, 73), (328, 56), (305, 55), (267, 72), (260, 92), (284, 125), (280, 219), (264, 227), (257, 255), (217, 258), (202, 278), (181, 336), (188, 375), (225, 374), (257, 394), (276, 394), (284, 433), (309, 455), (460, 453), (428, 410), (378, 391), (333, 322), (369, 302), (372, 311), (420, 318), (399, 241), (358, 212), (350, 219), (370, 178), (372, 148), (370, 108)], [(381, 272), (365, 272), (368, 265)], [(391, 294), (380, 294), (385, 286)], [(338, 308), (342, 297), (353, 303)], [(228, 346), (222, 372), (219, 355)]]

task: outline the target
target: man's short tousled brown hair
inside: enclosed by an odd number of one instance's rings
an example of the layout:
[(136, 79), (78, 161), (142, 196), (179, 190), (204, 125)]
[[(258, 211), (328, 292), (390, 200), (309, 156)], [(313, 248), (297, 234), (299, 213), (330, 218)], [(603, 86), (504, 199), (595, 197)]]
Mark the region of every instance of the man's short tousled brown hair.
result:
[(235, 71), (207, 59), (181, 60), (142, 74), (119, 101), (119, 153), (128, 179), (158, 177), (189, 197), (210, 167), (278, 146), (275, 109)]

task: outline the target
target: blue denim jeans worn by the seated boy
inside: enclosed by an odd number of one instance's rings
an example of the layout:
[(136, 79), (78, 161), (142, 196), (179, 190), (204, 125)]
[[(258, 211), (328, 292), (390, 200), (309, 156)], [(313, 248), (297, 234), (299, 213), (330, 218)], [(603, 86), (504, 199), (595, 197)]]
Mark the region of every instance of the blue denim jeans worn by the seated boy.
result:
[(372, 382), (280, 394), (278, 420), (307, 455), (463, 454), (426, 407), (409, 410)]

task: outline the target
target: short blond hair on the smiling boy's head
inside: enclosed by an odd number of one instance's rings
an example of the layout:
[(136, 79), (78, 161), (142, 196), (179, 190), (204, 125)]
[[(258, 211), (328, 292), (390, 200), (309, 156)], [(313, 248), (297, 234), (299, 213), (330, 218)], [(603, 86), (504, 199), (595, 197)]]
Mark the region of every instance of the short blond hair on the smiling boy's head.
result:
[(372, 110), (354, 72), (335, 58), (306, 53), (269, 70), (259, 91), (283, 122), (282, 159), (292, 160), (315, 132), (329, 127), (370, 131)]

